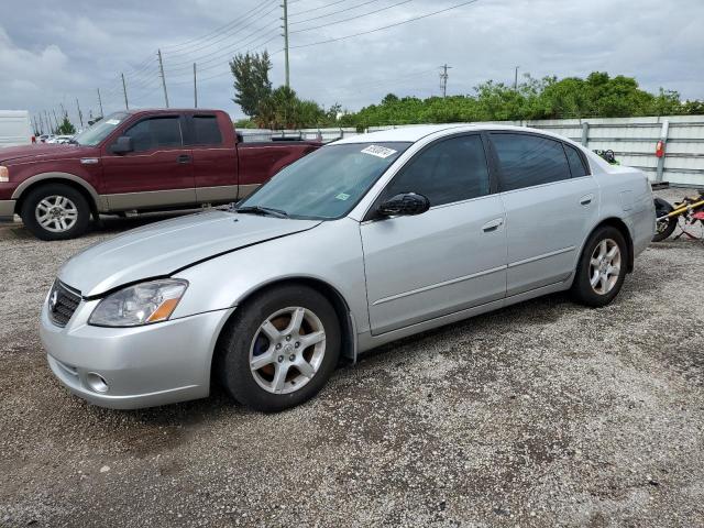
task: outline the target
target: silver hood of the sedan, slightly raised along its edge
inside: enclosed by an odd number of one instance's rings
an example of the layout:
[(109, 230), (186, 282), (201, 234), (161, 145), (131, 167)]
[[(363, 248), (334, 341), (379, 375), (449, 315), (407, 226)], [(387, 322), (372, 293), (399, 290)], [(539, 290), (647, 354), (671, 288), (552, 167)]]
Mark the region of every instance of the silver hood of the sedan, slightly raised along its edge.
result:
[(319, 223), (220, 210), (179, 217), (84, 250), (64, 264), (58, 278), (84, 297), (95, 297), (125, 284), (169, 276), (213, 256)]

